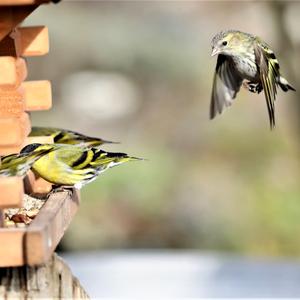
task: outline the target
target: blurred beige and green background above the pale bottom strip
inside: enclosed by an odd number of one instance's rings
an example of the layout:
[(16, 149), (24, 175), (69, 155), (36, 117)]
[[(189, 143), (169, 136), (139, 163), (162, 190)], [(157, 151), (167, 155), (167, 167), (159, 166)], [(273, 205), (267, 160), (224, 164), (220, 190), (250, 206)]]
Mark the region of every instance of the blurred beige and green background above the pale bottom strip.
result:
[(253, 255), (300, 251), (299, 92), (279, 92), (270, 132), (263, 94), (241, 91), (208, 119), (212, 36), (239, 29), (275, 50), (299, 89), (300, 3), (63, 1), (40, 7), (51, 51), (30, 79), (53, 84), (33, 124), (120, 141), (148, 161), (82, 190), (61, 247), (194, 248)]

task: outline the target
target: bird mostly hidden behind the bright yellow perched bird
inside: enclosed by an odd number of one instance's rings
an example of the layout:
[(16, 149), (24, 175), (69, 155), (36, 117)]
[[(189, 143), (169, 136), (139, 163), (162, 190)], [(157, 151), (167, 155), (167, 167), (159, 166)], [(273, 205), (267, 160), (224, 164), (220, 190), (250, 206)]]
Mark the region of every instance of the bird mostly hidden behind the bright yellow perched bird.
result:
[(98, 147), (103, 144), (116, 144), (116, 142), (86, 136), (75, 131), (52, 127), (34, 126), (32, 127), (29, 136), (51, 136), (53, 137), (54, 143), (57, 144), (85, 145), (87, 147)]

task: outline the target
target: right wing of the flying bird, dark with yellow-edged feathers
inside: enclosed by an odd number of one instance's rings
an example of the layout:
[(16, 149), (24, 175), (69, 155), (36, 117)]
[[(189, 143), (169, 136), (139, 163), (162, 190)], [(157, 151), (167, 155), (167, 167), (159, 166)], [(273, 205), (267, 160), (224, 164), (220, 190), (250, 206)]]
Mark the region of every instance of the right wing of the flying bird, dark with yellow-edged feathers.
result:
[(260, 80), (265, 92), (271, 129), (275, 127), (274, 102), (277, 93), (277, 78), (279, 78), (279, 64), (270, 48), (262, 43), (254, 47), (256, 63), (258, 65)]

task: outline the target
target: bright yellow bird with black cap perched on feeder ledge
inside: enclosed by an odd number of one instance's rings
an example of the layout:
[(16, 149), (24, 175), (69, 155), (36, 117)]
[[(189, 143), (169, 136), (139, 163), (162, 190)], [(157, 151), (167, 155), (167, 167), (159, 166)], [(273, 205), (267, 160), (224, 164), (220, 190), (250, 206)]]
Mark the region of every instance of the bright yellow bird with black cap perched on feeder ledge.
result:
[(64, 144), (30, 144), (21, 150), (21, 154), (40, 153), (47, 149), (50, 151), (32, 164), (32, 171), (55, 185), (77, 189), (113, 166), (140, 160), (125, 153)]

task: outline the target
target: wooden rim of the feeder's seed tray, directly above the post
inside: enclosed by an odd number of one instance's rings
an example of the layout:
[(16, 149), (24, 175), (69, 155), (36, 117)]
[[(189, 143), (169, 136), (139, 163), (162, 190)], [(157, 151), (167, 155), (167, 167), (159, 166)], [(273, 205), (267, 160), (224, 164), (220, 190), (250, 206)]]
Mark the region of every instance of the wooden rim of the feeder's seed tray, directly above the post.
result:
[(55, 192), (28, 227), (0, 228), (0, 245), (5, 245), (0, 247), (0, 268), (45, 263), (71, 223), (78, 196), (75, 190)]

